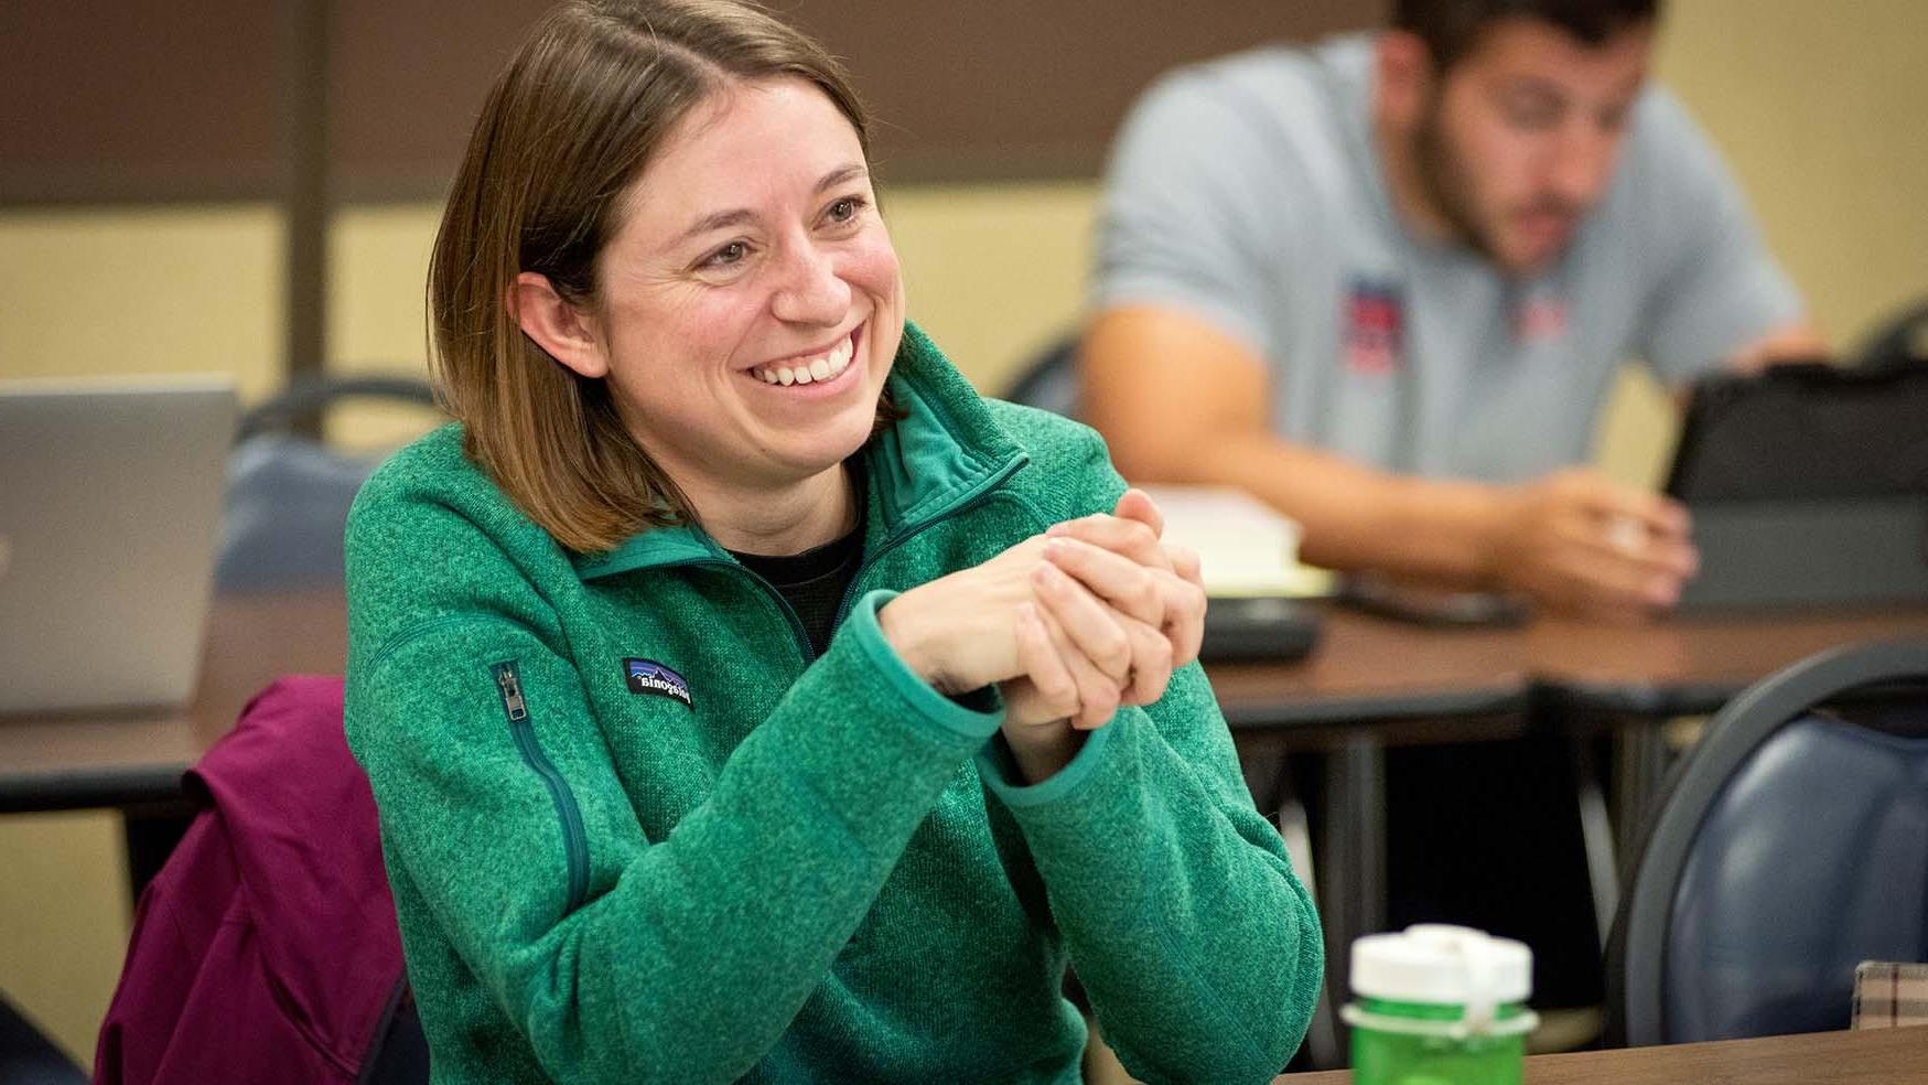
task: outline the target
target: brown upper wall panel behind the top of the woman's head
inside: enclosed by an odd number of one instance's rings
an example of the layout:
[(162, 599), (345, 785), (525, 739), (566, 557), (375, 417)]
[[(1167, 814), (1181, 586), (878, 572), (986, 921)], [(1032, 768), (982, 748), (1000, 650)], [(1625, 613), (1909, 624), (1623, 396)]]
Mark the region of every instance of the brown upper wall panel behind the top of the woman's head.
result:
[[(335, 160), (351, 195), (434, 191), (542, 0), (339, 0)], [(789, 0), (850, 66), (895, 179), (1089, 175), (1159, 71), (1379, 21), (1382, 0)]]

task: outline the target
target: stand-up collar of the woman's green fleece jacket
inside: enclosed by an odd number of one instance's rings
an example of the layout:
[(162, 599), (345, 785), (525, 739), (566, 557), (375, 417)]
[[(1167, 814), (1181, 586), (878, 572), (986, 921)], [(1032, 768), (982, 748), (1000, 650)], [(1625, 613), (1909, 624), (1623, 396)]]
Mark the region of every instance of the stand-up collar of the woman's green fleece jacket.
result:
[[(864, 449), (887, 538), (941, 518), (1024, 466), (1018, 443), (916, 324), (904, 324), (887, 387), (904, 416)], [(702, 561), (731, 559), (694, 524), (646, 528), (607, 553), (575, 555), (582, 580)]]

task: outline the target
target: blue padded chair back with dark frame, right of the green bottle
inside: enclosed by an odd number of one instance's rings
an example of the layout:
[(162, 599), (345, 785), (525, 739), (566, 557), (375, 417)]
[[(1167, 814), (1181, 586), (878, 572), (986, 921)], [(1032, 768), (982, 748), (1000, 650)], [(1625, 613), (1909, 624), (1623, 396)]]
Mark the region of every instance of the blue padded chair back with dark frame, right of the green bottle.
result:
[[(1633, 1045), (1845, 1029), (1855, 966), (1928, 960), (1928, 642), (1834, 649), (1735, 698), (1662, 804), (1620, 917)], [(1893, 696), (1864, 709), (1872, 686)], [(1834, 707), (1818, 707), (1834, 705)]]

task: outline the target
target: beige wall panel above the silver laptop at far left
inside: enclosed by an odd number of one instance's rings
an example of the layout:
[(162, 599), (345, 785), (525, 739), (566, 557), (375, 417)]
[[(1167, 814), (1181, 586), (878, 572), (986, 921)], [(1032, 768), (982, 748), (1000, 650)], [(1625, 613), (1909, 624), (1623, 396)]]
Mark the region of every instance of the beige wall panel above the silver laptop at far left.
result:
[(229, 372), (280, 384), (266, 206), (0, 212), (0, 376)]

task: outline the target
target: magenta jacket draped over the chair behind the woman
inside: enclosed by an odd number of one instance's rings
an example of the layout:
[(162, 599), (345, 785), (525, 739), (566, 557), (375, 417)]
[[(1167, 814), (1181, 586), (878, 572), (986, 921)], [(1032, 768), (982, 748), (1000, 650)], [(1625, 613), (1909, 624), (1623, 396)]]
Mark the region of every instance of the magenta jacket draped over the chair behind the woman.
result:
[(141, 894), (94, 1081), (357, 1081), (407, 983), (341, 680), (262, 690), (185, 786), (201, 813)]

